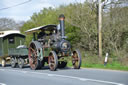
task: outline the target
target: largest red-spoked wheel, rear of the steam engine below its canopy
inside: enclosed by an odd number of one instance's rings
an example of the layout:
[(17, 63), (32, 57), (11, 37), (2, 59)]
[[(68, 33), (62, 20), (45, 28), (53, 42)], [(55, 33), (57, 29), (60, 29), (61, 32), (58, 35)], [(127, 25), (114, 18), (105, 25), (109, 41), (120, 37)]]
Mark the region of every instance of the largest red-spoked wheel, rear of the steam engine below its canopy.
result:
[(34, 43), (29, 47), (29, 64), (32, 70), (40, 69), (41, 62), (38, 60), (37, 47)]

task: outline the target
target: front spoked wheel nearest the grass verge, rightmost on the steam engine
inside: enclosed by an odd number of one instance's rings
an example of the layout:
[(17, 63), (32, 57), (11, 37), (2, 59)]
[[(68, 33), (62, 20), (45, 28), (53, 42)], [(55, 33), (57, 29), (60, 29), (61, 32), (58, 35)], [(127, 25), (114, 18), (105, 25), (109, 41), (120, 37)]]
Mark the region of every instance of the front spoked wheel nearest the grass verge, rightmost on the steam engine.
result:
[(78, 50), (73, 51), (72, 64), (74, 69), (80, 69), (81, 66), (81, 54)]

